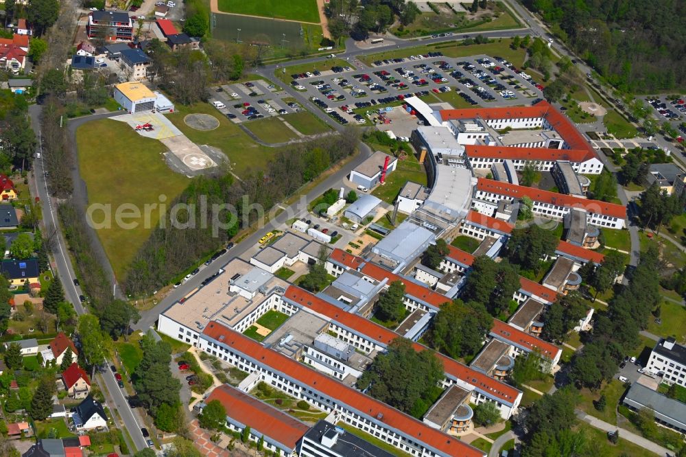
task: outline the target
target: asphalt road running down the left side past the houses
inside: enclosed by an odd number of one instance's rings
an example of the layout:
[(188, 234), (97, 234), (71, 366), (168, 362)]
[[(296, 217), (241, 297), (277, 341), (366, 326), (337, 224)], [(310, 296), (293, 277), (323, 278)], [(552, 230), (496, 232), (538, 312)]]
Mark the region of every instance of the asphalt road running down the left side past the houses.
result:
[[(29, 116), (31, 118), (31, 125), (34, 132), (38, 134), (38, 150), (40, 151), (40, 111), (42, 107), (39, 105), (29, 106)], [(78, 120), (76, 121), (78, 122)], [(53, 257), (55, 260), (56, 272), (60, 275), (62, 279), (62, 285), (64, 287), (64, 296), (68, 301), (73, 303), (76, 313), (80, 316), (86, 314), (86, 309), (82, 306), (79, 296), (82, 294), (80, 288), (77, 288), (73, 283), (73, 279), (76, 277), (73, 268), (71, 266), (71, 261), (69, 260), (69, 253), (67, 249), (67, 243), (64, 241), (62, 232), (57, 221), (57, 208), (56, 200), (49, 196), (45, 176), (43, 174), (43, 154), (41, 153), (41, 158), (34, 161), (34, 191), (37, 192), (37, 196), (43, 202), (43, 223), (45, 224), (45, 229), (43, 233), (51, 234), (55, 233), (55, 242), (53, 248)], [(108, 361), (109, 364), (109, 361)], [(126, 426), (137, 450), (144, 449), (147, 447), (145, 443), (145, 438), (141, 433), (141, 427), (139, 425), (139, 419), (136, 417), (132, 409), (128, 406), (126, 397), (124, 397), (122, 390), (117, 385), (117, 380), (115, 379), (114, 373), (110, 370), (104, 371), (102, 375), (98, 376), (99, 379), (104, 380), (105, 387), (110, 393), (110, 397), (113, 399), (114, 404), (110, 404), (110, 410), (116, 408), (119, 412), (119, 417)], [(97, 380), (97, 379), (96, 379)], [(100, 384), (100, 383), (98, 383)], [(102, 384), (100, 384), (102, 388)]]

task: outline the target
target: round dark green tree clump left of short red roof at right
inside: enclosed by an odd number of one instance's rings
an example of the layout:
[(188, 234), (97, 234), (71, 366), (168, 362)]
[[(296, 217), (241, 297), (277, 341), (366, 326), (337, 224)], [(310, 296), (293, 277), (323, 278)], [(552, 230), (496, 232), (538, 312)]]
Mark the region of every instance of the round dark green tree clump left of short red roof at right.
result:
[(510, 262), (525, 270), (538, 270), (541, 259), (553, 255), (558, 245), (555, 233), (532, 224), (524, 229), (514, 229), (506, 245)]

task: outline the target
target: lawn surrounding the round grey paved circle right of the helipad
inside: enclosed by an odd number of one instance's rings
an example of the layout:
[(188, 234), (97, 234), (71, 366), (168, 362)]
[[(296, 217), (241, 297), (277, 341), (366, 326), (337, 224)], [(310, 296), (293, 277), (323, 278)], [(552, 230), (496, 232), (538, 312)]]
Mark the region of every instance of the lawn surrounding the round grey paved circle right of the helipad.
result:
[[(219, 120), (220, 126), (215, 130), (191, 128), (183, 121), (183, 118), (190, 113), (212, 115)], [(176, 114), (169, 115), (168, 118), (194, 143), (206, 144), (222, 150), (228, 156), (233, 172), (239, 176), (244, 175), (248, 169), (263, 169), (279, 151), (278, 148), (268, 148), (255, 143), (239, 126), (206, 103), (191, 106), (177, 104)]]

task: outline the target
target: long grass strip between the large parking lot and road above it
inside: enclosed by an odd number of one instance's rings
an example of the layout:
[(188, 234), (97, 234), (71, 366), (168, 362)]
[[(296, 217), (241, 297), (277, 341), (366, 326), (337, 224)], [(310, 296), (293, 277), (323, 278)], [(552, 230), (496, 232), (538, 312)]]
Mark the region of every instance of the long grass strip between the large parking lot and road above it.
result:
[(407, 57), (412, 56), (413, 54), (427, 54), (427, 52), (440, 51), (447, 57), (467, 57), (477, 56), (479, 54), (486, 54), (491, 57), (500, 56), (512, 62), (515, 67), (521, 67), (524, 63), (526, 51), (521, 48), (511, 49), (511, 42), (512, 40), (509, 38), (504, 38), (496, 40), (493, 43), (484, 43), (483, 45), (461, 46), (458, 45), (458, 43), (460, 43), (459, 41), (453, 41), (450, 43), (440, 43), (439, 45), (425, 45), (370, 54), (368, 56), (360, 57), (359, 60), (362, 60), (367, 65), (371, 65), (375, 60)]

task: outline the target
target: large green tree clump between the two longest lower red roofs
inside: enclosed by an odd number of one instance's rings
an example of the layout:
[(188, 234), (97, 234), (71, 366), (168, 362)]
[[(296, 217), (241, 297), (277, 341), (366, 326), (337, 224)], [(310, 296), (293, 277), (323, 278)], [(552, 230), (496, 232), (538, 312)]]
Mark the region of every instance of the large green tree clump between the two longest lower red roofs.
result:
[(430, 406), (434, 401), (431, 396), (443, 376), (442, 364), (432, 351), (417, 352), (412, 341), (396, 338), (390, 342), (386, 353), (377, 355), (369, 369), (357, 379), (357, 387), (410, 414), (419, 404)]

